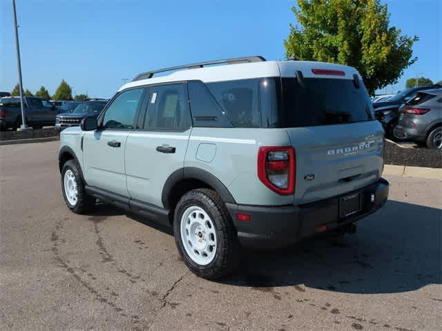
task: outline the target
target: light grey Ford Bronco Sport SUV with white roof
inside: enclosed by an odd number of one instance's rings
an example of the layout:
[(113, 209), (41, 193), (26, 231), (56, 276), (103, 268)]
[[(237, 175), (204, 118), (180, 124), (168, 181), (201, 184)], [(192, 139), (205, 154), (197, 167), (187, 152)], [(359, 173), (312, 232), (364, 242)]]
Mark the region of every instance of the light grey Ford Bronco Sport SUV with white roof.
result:
[(242, 247), (354, 229), (387, 201), (383, 149), (354, 68), (242, 57), (139, 74), (61, 132), (59, 168), (70, 210), (99, 199), (171, 225), (215, 279)]

